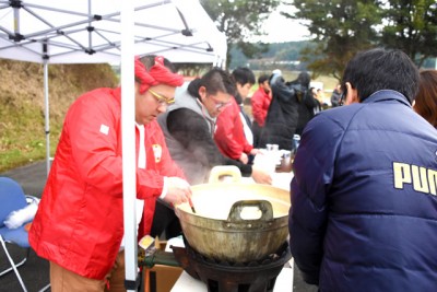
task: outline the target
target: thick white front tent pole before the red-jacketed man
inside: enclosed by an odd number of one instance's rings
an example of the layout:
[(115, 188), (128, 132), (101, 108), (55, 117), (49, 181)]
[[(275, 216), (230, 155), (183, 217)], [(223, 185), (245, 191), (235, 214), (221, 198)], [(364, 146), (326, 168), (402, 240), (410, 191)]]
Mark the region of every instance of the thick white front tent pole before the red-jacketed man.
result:
[(133, 0), (121, 4), (121, 141), (122, 141), (122, 180), (123, 180), (123, 222), (125, 222), (125, 287), (137, 291), (138, 241), (137, 241), (137, 170), (135, 170), (135, 106), (134, 106), (134, 67), (133, 67)]

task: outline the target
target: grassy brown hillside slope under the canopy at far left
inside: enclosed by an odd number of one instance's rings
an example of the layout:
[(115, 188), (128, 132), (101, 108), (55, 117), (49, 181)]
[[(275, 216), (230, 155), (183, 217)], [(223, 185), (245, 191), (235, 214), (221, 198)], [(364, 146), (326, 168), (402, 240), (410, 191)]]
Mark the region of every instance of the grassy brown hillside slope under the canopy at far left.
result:
[[(69, 105), (82, 93), (118, 80), (109, 65), (48, 67), (51, 155)], [(0, 172), (45, 157), (44, 67), (0, 59)]]

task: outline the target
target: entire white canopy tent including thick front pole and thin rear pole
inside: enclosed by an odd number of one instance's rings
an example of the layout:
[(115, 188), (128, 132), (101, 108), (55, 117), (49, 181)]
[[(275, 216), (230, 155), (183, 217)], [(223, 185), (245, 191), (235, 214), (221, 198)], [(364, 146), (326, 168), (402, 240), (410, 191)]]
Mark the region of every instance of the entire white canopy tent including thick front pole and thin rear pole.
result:
[[(198, 0), (0, 0), (0, 58), (44, 63), (47, 172), (49, 63), (121, 60), (126, 279), (137, 284), (133, 56), (223, 66), (226, 38)], [(126, 85), (125, 85), (126, 84)]]

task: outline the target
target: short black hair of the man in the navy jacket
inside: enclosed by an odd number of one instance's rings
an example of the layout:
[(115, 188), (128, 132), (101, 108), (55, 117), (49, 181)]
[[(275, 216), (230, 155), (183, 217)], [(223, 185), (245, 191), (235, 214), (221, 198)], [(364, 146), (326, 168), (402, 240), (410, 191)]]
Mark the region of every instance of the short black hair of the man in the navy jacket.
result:
[(344, 70), (342, 90), (350, 82), (356, 89), (359, 101), (377, 91), (392, 90), (413, 102), (418, 91), (418, 69), (400, 49), (374, 48), (359, 51)]

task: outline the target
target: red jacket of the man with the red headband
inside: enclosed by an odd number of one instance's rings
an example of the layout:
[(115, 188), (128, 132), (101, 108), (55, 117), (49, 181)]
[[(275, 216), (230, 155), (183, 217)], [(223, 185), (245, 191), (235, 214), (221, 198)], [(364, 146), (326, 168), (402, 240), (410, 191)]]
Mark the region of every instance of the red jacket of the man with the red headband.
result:
[[(138, 156), (138, 130), (135, 136)], [(145, 200), (146, 224), (140, 233), (151, 229), (163, 175), (184, 177), (156, 121), (145, 125), (145, 148), (146, 170), (137, 170), (137, 197)], [(104, 279), (123, 236), (121, 162), (120, 89), (84, 94), (67, 114), (29, 231), (39, 256), (83, 277)]]

